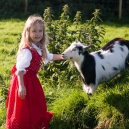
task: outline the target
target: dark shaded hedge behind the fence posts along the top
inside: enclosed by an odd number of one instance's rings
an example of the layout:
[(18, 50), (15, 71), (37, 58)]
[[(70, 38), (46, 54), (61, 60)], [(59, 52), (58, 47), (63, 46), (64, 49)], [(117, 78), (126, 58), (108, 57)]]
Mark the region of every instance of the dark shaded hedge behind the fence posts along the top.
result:
[[(25, 14), (25, 3), (28, 3)], [(100, 9), (103, 20), (117, 20), (119, 0), (0, 0), (0, 18), (28, 17), (33, 13), (42, 15), (46, 7), (51, 7), (54, 18), (60, 16), (62, 7), (67, 4), (70, 8), (70, 18), (73, 19), (77, 11), (82, 12), (82, 19), (90, 19), (94, 9)], [(128, 18), (129, 0), (122, 2), (122, 18)]]

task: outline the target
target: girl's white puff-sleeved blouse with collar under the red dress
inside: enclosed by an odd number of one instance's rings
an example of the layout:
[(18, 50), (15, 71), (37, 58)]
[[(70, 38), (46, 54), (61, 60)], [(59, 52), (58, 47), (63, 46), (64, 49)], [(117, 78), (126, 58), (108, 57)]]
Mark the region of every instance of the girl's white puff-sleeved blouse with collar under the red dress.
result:
[[(42, 55), (41, 49), (38, 48), (35, 44), (32, 43), (32, 47), (34, 47), (37, 50), (39, 55)], [(17, 72), (18, 71), (26, 72), (25, 68), (29, 67), (31, 59), (32, 59), (32, 54), (29, 49), (25, 48), (19, 51), (17, 56), (17, 61), (16, 61)], [(47, 49), (47, 59), (44, 60), (44, 64), (47, 64), (52, 59), (53, 59), (53, 54), (49, 53)]]

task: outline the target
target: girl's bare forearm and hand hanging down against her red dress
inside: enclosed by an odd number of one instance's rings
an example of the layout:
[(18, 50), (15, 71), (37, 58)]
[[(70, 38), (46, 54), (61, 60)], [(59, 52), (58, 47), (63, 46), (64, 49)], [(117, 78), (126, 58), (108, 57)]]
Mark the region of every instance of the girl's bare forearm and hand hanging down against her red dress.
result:
[(25, 98), (26, 95), (26, 88), (24, 86), (24, 81), (23, 81), (23, 76), (24, 76), (24, 71), (18, 71), (17, 76), (18, 76), (18, 96), (22, 99)]

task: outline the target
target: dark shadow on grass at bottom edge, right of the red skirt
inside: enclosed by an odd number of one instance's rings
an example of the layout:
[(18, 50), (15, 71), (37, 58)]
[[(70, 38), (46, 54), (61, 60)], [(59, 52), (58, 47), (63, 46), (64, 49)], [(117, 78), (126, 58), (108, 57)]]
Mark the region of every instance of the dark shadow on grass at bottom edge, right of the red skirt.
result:
[(76, 112), (67, 114), (66, 117), (55, 116), (50, 124), (50, 129), (93, 129), (97, 125), (97, 120), (93, 113)]

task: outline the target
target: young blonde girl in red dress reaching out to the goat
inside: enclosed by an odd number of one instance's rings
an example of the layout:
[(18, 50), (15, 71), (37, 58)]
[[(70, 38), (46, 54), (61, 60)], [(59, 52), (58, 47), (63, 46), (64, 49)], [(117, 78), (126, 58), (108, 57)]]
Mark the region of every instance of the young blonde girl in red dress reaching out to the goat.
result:
[(7, 99), (7, 129), (48, 129), (53, 113), (47, 111), (42, 86), (37, 78), (42, 60), (62, 59), (61, 54), (50, 54), (44, 21), (38, 15), (30, 16), (25, 24), (12, 69)]

